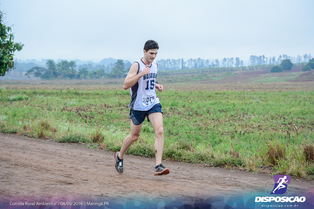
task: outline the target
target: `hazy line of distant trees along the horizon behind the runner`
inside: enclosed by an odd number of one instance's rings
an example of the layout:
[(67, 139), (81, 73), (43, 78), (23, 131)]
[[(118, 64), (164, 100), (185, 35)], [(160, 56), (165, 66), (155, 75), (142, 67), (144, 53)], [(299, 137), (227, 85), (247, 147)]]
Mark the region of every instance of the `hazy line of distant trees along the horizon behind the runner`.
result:
[[(267, 59), (265, 56), (254, 56), (251, 55), (250, 63), (251, 65), (246, 67), (243, 66), (243, 61), (238, 57), (234, 60), (233, 58), (224, 58), (221, 61), (221, 64), (218, 59), (212, 60), (203, 60), (203, 59), (189, 59), (187, 63), (184, 62), (183, 58), (178, 60), (159, 60), (159, 70), (167, 71), (168, 69), (163, 69), (163, 66), (168, 66), (172, 70), (187, 70), (187, 69), (204, 69), (204, 68), (215, 68), (218, 71), (237, 71), (237, 70), (252, 70), (261, 66), (262, 68), (270, 68), (272, 67), (272, 72), (281, 72), (282, 70), (291, 70), (293, 66), (293, 62), (291, 62), (291, 58), (295, 63), (300, 63), (302, 59), (301, 56), (298, 55), (296, 59), (294, 57), (290, 57), (288, 55), (279, 55), (278, 59), (273, 57), (272, 59)], [(288, 59), (290, 58), (290, 59)], [(303, 55), (304, 61), (312, 61), (311, 55)], [(284, 59), (284, 60), (283, 60)], [(186, 66), (187, 64), (187, 66)], [(278, 65), (279, 64), (279, 65)], [(306, 64), (307, 66), (312, 67), (313, 62), (310, 64)], [(91, 65), (90, 63), (88, 65)], [(304, 64), (305, 65), (305, 64)], [(91, 65), (92, 66), (92, 65)], [(91, 66), (87, 68), (85, 65), (81, 65), (78, 70), (75, 68), (75, 61), (67, 61), (62, 60), (58, 63), (55, 63), (54, 60), (47, 60), (46, 68), (35, 66), (27, 71), (26, 76), (34, 76), (37, 79), (99, 79), (99, 78), (122, 78), (123, 74), (129, 71), (131, 63), (123, 63), (123, 60), (119, 59), (116, 63), (112, 63), (111, 71), (105, 71), (104, 68), (101, 68), (101, 65), (97, 65), (98, 69), (93, 69)], [(306, 68), (307, 69), (307, 68)], [(310, 69), (311, 70), (311, 69)], [(169, 70), (168, 70), (169, 71)]]

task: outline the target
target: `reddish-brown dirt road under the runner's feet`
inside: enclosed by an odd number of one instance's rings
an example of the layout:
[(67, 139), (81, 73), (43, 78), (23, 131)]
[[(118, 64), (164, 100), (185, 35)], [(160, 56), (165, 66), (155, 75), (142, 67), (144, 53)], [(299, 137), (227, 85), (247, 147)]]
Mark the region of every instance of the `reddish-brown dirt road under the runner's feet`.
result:
[[(269, 194), (273, 178), (164, 161), (169, 175), (154, 176), (154, 159), (126, 155), (124, 173), (114, 168), (114, 153), (85, 144), (61, 144), (0, 134), (0, 199), (88, 196), (107, 198), (208, 198)], [(292, 178), (289, 193), (311, 191), (313, 181)]]

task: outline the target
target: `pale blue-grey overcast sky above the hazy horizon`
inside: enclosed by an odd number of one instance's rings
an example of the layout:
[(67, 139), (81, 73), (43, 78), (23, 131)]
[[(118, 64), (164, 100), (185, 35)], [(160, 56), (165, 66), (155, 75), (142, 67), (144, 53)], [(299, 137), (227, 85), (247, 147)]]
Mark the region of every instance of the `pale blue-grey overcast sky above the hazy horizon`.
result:
[(17, 59), (157, 60), (314, 55), (314, 1), (0, 0)]

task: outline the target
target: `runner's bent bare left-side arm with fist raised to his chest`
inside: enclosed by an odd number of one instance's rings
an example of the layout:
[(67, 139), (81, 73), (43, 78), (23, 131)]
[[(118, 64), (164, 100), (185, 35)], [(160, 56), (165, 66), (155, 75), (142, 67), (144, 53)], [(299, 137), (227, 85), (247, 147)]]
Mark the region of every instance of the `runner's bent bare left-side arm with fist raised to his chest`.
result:
[(134, 62), (133, 65), (130, 67), (130, 71), (127, 74), (127, 77), (124, 80), (123, 89), (127, 90), (127, 89), (131, 88), (132, 86), (134, 86), (134, 84), (136, 84), (136, 82), (138, 82), (138, 80), (141, 77), (149, 74), (149, 71), (150, 71), (150, 69), (146, 65), (146, 67), (143, 69), (143, 71), (137, 74), (138, 63)]

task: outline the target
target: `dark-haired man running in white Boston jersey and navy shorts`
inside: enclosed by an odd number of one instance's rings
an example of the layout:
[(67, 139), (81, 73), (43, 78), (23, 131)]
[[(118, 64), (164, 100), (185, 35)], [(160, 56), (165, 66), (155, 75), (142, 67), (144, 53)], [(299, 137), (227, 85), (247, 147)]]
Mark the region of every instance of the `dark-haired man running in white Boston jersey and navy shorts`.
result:
[(169, 169), (161, 164), (164, 149), (164, 128), (162, 122), (162, 108), (157, 89), (162, 92), (163, 86), (156, 82), (158, 63), (154, 59), (158, 53), (158, 43), (153, 40), (146, 41), (143, 58), (135, 61), (125, 78), (123, 89), (130, 88), (131, 103), (129, 107), (131, 119), (131, 133), (124, 139), (120, 152), (115, 153), (116, 171), (123, 173), (123, 157), (127, 149), (138, 140), (142, 130), (142, 123), (147, 117), (155, 132), (155, 174), (169, 174)]

